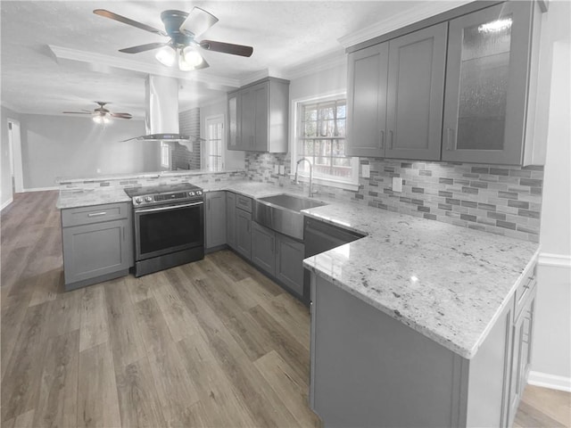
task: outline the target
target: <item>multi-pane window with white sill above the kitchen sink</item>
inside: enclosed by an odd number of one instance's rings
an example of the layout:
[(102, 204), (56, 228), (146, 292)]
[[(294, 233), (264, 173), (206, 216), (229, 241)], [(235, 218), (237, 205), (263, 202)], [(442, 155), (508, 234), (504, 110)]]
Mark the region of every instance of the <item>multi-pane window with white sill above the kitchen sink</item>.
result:
[[(345, 155), (347, 103), (344, 95), (297, 102), (292, 173), (296, 162), (305, 158), (313, 166), (316, 183), (352, 188), (357, 185), (359, 158)], [(301, 177), (309, 177), (310, 167), (302, 162)]]

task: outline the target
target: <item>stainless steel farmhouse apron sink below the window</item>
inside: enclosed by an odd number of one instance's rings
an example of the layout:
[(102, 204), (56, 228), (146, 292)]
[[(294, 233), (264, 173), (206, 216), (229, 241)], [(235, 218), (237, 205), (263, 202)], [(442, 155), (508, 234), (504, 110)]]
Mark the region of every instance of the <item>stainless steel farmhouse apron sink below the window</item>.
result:
[(253, 219), (280, 234), (303, 240), (302, 210), (322, 207), (325, 202), (291, 194), (276, 194), (254, 201)]

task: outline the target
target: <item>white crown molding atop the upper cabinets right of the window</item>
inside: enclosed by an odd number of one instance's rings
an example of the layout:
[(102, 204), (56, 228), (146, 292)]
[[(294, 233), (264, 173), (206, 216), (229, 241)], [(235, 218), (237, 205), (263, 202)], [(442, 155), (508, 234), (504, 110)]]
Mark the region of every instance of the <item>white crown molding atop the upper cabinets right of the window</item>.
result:
[(463, 4), (472, 3), (471, 0), (450, 0), (450, 1), (436, 1), (436, 2), (426, 2), (413, 10), (407, 10), (387, 18), (383, 21), (379, 21), (364, 29), (355, 31), (352, 34), (340, 37), (337, 40), (343, 47), (347, 48), (353, 45), (358, 45), (362, 42), (366, 42), (371, 38), (382, 36), (389, 33), (395, 29), (401, 29), (407, 25), (413, 24), (418, 21), (430, 18), (438, 13), (443, 13), (455, 9)]

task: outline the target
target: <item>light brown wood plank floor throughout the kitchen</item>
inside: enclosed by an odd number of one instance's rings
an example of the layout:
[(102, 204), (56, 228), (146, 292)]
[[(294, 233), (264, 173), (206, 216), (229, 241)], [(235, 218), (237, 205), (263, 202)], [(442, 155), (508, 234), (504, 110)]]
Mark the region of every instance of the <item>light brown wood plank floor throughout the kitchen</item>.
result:
[[(2, 212), (2, 427), (319, 426), (302, 304), (231, 251), (62, 292), (56, 198)], [(528, 387), (516, 426), (569, 408)]]

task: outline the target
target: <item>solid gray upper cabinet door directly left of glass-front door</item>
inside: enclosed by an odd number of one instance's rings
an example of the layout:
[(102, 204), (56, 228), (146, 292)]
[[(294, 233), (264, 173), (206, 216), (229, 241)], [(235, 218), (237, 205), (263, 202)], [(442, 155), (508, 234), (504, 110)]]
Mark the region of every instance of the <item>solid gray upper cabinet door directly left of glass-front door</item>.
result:
[(447, 28), (443, 22), (389, 42), (386, 158), (440, 159)]

